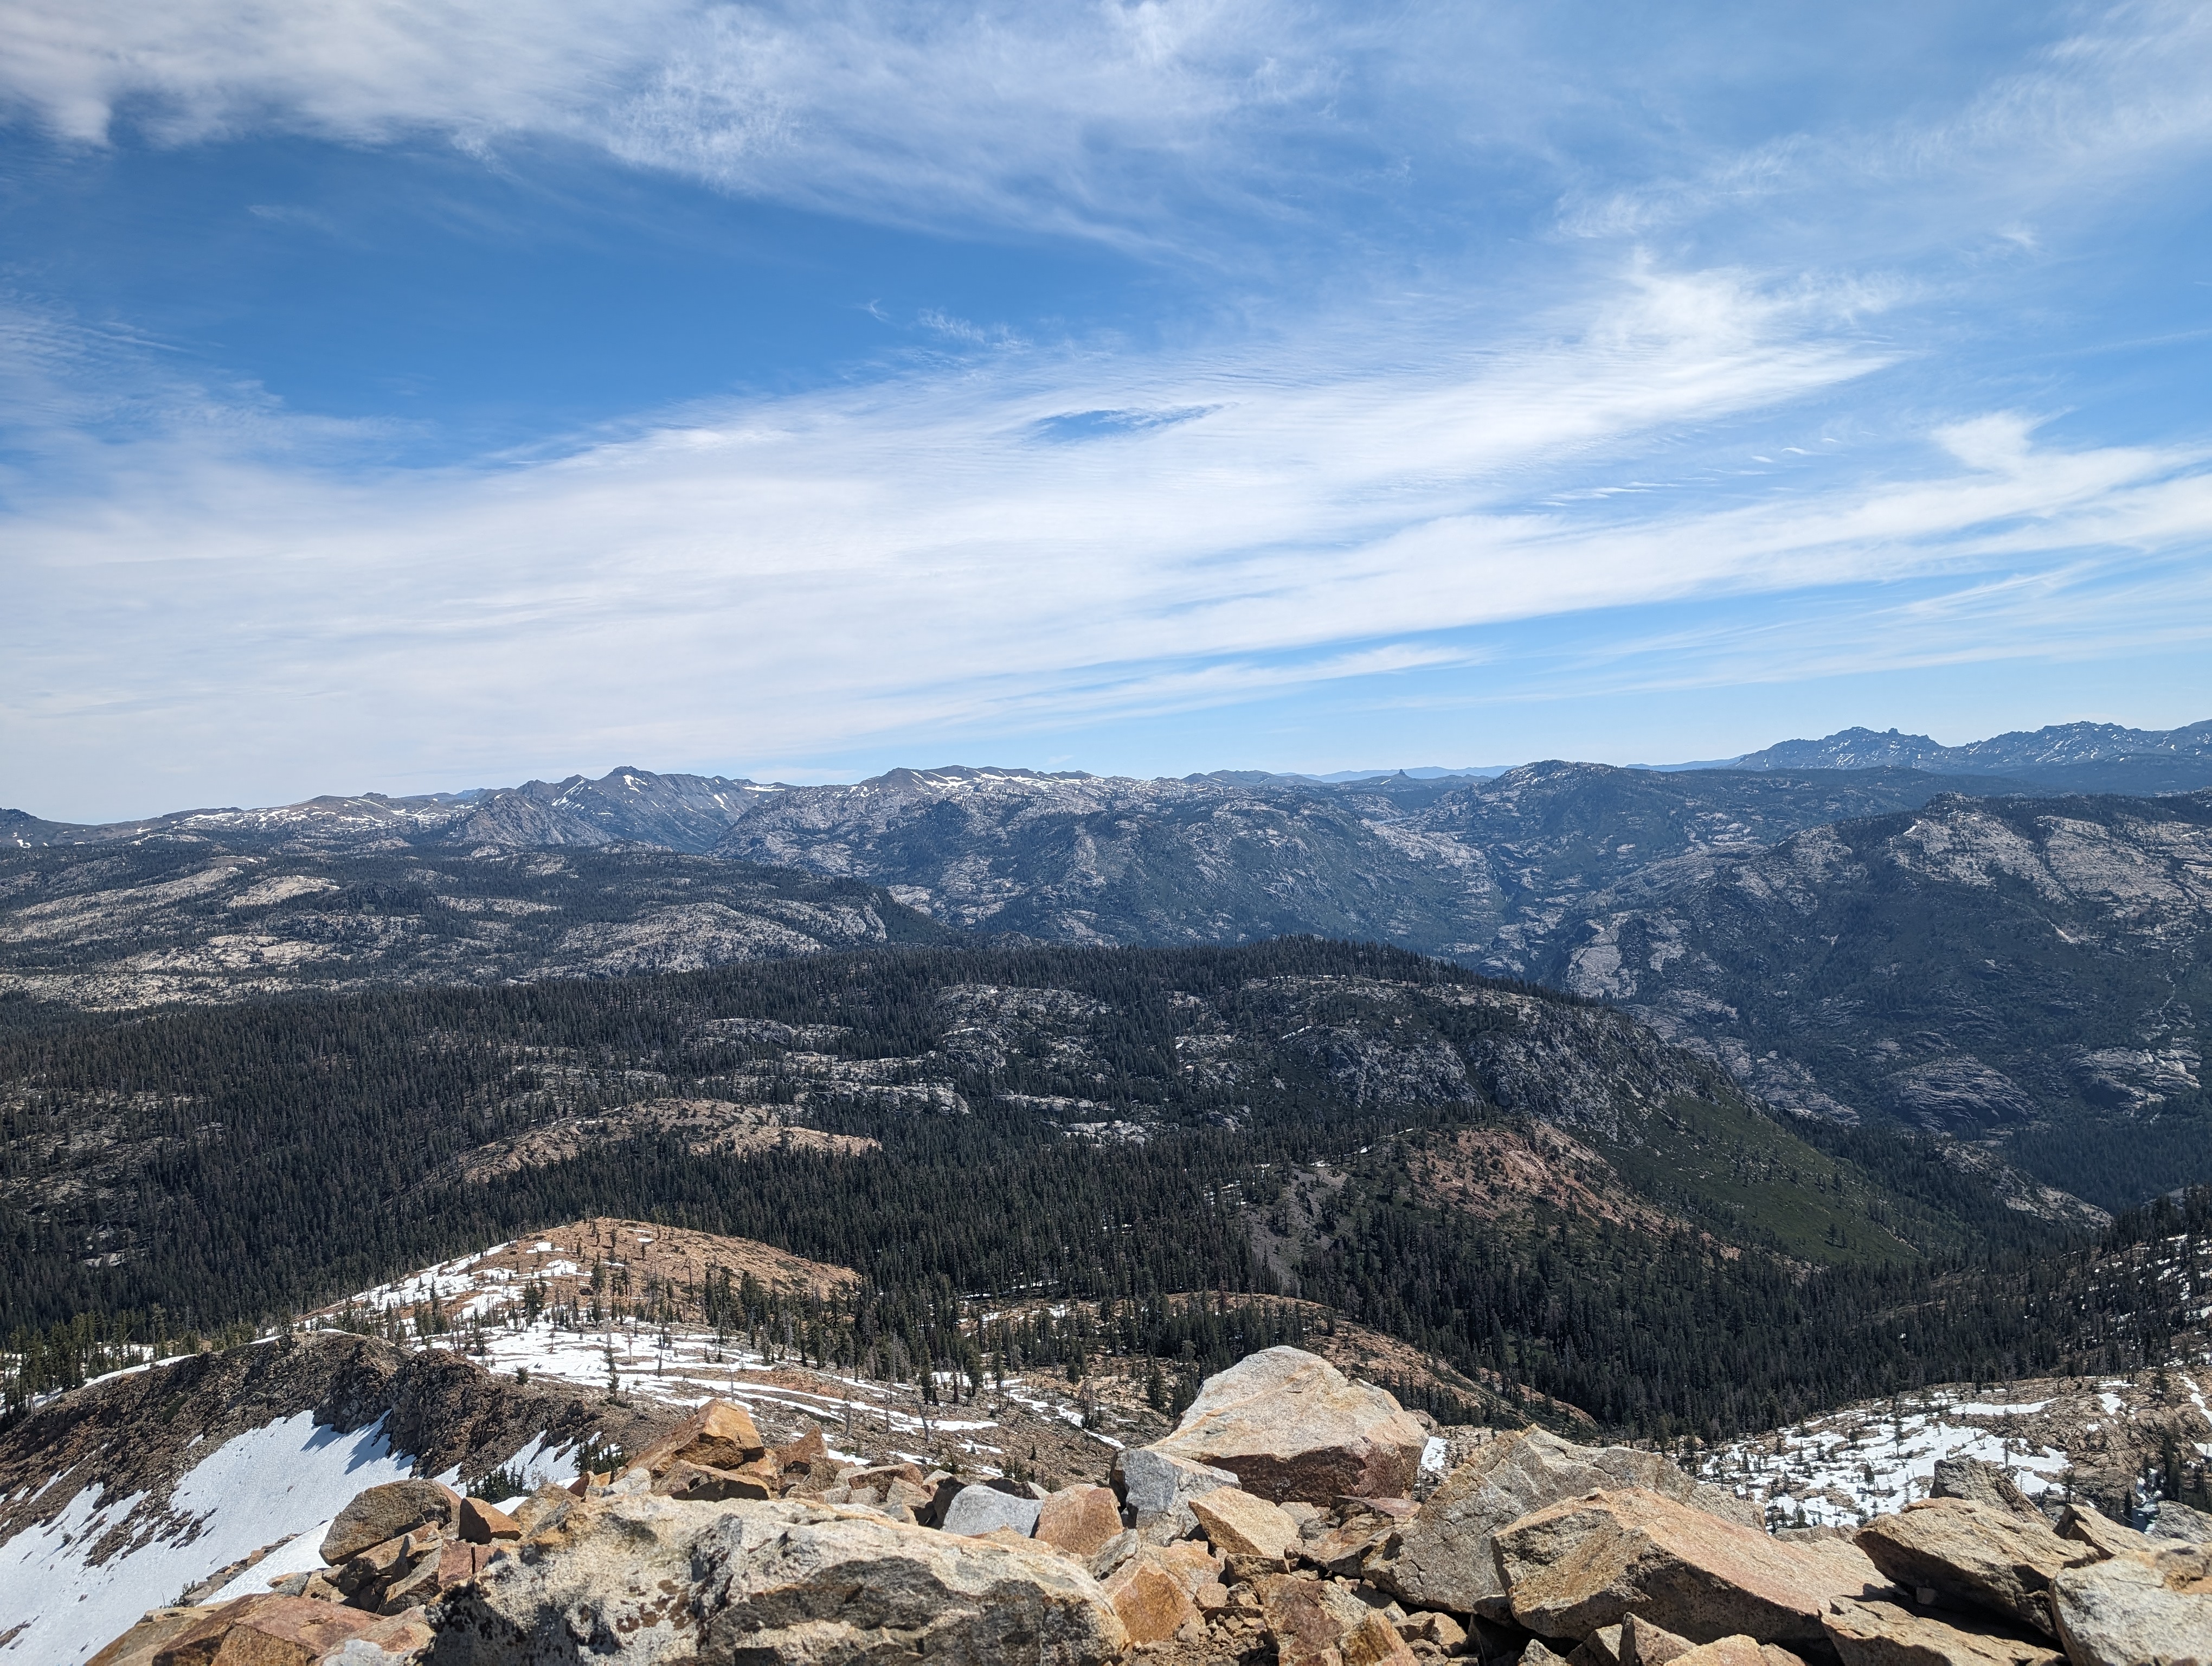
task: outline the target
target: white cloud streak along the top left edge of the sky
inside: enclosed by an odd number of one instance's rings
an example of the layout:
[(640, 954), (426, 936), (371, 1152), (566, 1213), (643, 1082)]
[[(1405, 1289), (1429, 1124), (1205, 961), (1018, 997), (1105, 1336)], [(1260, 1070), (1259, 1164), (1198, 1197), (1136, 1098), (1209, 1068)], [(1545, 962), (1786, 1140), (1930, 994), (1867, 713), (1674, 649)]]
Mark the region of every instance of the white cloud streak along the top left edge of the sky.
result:
[(77, 144), (119, 122), (553, 135), (810, 208), (1155, 246), (1194, 201), (1256, 201), (1285, 133), (1340, 137), (1329, 95), (1380, 29), (1396, 51), (1427, 24), (1259, 0), (7, 0), (0, 104)]

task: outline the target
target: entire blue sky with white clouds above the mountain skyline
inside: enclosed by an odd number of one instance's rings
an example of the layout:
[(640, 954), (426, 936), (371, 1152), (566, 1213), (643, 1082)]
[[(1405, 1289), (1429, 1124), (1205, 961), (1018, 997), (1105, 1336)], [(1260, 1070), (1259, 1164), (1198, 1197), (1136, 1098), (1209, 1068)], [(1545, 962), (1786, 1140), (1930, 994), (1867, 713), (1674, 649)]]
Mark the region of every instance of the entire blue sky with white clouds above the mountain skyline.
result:
[(0, 4), (0, 803), (2212, 715), (2212, 18)]

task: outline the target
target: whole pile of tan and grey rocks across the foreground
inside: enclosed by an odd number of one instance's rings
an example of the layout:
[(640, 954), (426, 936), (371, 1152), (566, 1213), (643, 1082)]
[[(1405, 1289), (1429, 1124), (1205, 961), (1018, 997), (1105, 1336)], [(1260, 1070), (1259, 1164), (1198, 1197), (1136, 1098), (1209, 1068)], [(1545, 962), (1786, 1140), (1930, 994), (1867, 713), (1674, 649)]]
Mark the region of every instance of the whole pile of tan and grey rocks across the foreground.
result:
[(841, 1467), (710, 1401), (511, 1509), (372, 1487), (321, 1571), (157, 1608), (93, 1666), (2212, 1666), (2212, 1544), (2053, 1524), (1986, 1476), (1770, 1535), (1650, 1451), (1504, 1434), (1431, 1489), (1427, 1440), (1294, 1347), (1057, 1493)]

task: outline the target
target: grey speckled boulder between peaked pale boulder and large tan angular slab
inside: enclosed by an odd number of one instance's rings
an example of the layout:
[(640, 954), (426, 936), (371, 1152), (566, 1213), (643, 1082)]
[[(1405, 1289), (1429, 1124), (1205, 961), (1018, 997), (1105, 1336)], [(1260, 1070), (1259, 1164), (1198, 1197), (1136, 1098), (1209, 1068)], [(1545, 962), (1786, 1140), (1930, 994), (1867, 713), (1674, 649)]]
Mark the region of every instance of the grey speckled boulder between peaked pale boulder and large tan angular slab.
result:
[(1732, 1493), (1705, 1487), (1657, 1451), (1577, 1447), (1540, 1429), (1475, 1449), (1438, 1487), (1367, 1578), (1422, 1608), (1511, 1617), (1491, 1535), (1531, 1511), (1601, 1489), (1641, 1487), (1741, 1527), (1759, 1527)]

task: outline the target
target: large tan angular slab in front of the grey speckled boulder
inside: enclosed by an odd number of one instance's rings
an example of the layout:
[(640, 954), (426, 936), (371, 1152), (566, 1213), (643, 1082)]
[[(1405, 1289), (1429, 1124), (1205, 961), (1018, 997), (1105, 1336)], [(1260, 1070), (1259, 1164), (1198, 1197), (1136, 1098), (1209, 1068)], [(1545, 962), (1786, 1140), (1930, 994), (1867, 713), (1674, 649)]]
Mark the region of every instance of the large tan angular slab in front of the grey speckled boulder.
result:
[(1781, 1544), (1641, 1487), (1524, 1516), (1495, 1551), (1513, 1617), (1544, 1637), (1588, 1637), (1635, 1613), (1692, 1644), (1823, 1642), (1832, 1600), (1885, 1589), (1849, 1544)]

